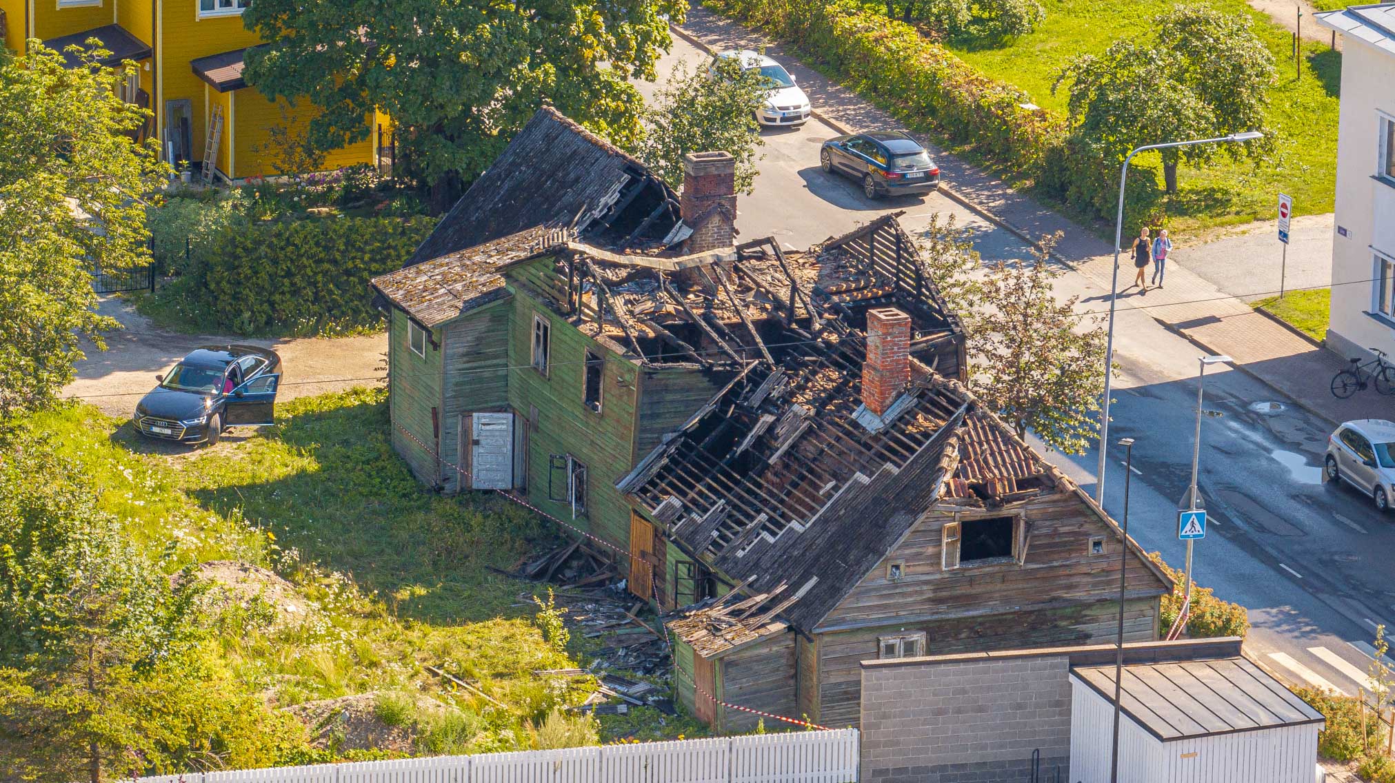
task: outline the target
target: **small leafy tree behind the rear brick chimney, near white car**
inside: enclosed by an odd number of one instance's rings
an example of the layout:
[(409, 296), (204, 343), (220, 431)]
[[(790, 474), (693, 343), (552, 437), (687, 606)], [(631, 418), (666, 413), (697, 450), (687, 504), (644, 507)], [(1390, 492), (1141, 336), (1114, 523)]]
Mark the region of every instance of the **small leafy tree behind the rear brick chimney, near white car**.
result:
[(678, 65), (644, 109), (644, 137), (636, 156), (674, 188), (684, 183), (684, 155), (730, 152), (737, 160), (737, 189), (756, 181), (756, 150), (766, 142), (755, 113), (766, 102), (766, 84), (735, 60), (713, 63), (713, 72)]

